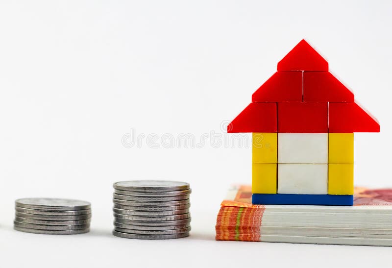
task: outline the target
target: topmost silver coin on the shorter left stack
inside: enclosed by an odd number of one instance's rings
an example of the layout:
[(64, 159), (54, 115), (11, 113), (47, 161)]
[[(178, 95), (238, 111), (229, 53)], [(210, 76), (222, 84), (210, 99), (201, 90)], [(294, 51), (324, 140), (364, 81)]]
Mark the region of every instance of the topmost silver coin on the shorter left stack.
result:
[(86, 201), (60, 198), (21, 198), (15, 201), (17, 207), (39, 210), (84, 210), (90, 209)]

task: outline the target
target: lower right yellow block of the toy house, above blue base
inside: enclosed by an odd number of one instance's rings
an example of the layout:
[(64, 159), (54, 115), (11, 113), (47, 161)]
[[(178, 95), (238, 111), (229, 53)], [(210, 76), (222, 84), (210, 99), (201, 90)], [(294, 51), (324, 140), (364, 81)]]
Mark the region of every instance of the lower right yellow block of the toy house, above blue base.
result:
[(328, 164), (328, 195), (354, 194), (354, 165)]

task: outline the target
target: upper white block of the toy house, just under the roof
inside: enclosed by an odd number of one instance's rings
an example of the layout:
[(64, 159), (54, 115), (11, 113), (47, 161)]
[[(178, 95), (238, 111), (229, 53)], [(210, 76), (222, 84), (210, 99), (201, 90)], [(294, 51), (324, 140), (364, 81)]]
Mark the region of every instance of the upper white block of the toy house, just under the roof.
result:
[(328, 133), (278, 133), (278, 163), (328, 164)]

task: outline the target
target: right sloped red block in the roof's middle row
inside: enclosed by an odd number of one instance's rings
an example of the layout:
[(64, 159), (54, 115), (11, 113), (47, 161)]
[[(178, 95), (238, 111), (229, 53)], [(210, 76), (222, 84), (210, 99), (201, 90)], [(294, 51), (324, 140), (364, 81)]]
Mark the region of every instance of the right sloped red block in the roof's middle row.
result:
[(354, 94), (332, 73), (304, 72), (303, 101), (354, 102)]

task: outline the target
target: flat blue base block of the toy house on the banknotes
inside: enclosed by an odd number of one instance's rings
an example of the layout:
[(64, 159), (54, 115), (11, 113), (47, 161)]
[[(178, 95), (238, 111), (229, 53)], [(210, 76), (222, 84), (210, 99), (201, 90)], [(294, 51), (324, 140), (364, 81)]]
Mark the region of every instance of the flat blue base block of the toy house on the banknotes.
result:
[(289, 195), (253, 194), (252, 204), (258, 205), (328, 205), (352, 206), (353, 195)]

